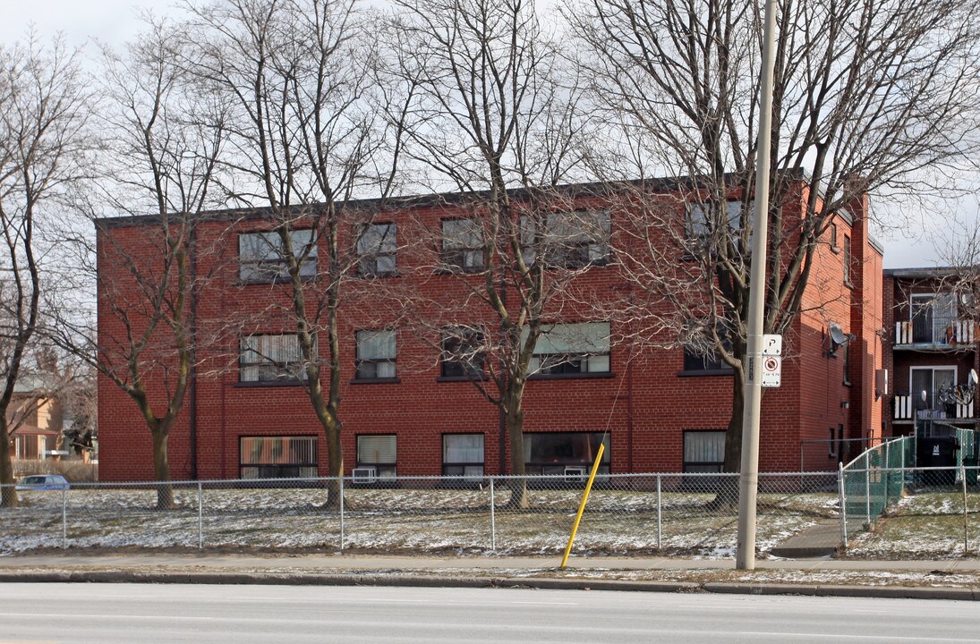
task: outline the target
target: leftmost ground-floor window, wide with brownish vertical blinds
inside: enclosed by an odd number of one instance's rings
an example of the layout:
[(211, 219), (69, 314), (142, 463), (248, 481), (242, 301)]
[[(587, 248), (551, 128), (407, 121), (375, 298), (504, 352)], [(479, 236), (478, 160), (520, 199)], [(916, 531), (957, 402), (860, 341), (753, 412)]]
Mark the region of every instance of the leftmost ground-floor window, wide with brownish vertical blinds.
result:
[(317, 437), (240, 437), (242, 479), (313, 479), (319, 474)]

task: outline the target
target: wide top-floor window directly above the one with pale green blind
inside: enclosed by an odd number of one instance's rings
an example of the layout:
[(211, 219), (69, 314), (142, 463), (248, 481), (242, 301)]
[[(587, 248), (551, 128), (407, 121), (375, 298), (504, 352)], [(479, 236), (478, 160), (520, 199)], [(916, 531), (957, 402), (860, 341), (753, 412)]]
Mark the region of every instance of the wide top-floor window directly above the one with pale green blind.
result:
[(521, 217), (520, 238), (524, 262), (544, 253), (549, 266), (584, 268), (610, 260), (611, 217), (608, 210), (549, 212), (543, 230), (529, 217)]

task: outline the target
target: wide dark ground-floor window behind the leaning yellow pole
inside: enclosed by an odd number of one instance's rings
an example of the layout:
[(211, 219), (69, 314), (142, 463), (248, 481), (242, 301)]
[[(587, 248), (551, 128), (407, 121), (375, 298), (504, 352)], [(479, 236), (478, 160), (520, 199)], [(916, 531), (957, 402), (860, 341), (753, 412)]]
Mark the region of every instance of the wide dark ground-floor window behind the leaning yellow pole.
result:
[(524, 468), (528, 475), (588, 476), (606, 445), (599, 474), (610, 473), (610, 437), (602, 432), (547, 432), (524, 435)]

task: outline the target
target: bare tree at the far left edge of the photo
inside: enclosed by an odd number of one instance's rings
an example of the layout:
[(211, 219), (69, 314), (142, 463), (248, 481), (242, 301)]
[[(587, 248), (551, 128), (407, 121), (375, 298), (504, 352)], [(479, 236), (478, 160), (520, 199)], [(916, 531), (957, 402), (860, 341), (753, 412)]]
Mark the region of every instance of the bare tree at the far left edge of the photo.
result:
[[(75, 54), (55, 41), (0, 47), (0, 483), (14, 482), (7, 412), (41, 320), (38, 227), (84, 174), (88, 97)], [(0, 504), (18, 503), (12, 486)]]

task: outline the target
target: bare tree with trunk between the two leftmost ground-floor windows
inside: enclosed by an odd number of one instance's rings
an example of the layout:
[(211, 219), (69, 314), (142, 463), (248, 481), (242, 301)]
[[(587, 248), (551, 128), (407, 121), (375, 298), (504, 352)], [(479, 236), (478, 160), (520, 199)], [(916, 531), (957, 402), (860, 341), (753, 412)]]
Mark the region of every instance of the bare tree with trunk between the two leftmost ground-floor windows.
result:
[[(386, 135), (375, 116), (370, 73), (374, 52), (368, 15), (357, 0), (230, 0), (190, 7), (200, 44), (195, 69), (232, 110), (232, 148), (222, 160), (230, 200), (262, 208), (269, 234), (253, 233), (243, 282), (270, 285), (263, 323), (292, 331), (292, 354), (270, 377), (297, 380), (317, 416), (327, 474), (341, 477), (341, 355), (338, 312), (354, 306), (346, 284), (358, 264), (371, 212), (355, 197), (385, 197), (391, 171), (380, 172)], [(232, 180), (233, 179), (233, 180)], [(250, 245), (250, 246), (249, 246)], [(242, 346), (258, 323), (242, 330)], [(265, 331), (270, 331), (266, 329)], [(337, 481), (326, 509), (339, 507)]]

